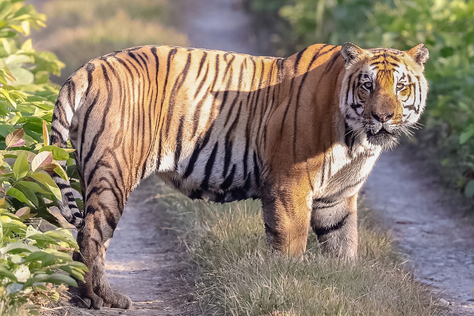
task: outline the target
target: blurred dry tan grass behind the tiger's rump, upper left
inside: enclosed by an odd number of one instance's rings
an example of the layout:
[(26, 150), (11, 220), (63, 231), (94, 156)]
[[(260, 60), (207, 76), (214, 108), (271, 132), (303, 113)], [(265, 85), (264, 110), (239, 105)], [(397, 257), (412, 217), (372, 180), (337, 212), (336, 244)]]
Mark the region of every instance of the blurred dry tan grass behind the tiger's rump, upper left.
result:
[(63, 83), (92, 58), (137, 45), (186, 45), (167, 27), (169, 0), (46, 0), (48, 27), (34, 35), (39, 47), (64, 61)]

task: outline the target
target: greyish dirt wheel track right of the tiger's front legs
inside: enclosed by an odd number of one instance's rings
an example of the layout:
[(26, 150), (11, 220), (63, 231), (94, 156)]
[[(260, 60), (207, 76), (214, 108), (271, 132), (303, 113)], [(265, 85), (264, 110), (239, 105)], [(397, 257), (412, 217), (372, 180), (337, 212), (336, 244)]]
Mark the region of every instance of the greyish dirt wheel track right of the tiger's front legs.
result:
[(410, 259), (416, 277), (452, 301), (453, 316), (474, 315), (474, 226), (406, 147), (383, 153), (364, 192)]

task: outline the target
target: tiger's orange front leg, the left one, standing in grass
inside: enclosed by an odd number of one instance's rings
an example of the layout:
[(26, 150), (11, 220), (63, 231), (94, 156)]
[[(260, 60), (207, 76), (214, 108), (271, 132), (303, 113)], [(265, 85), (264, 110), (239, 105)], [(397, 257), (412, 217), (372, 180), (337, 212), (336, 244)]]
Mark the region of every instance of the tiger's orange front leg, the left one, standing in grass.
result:
[(311, 214), (307, 189), (278, 184), (264, 186), (261, 199), (270, 249), (295, 258), (306, 250)]

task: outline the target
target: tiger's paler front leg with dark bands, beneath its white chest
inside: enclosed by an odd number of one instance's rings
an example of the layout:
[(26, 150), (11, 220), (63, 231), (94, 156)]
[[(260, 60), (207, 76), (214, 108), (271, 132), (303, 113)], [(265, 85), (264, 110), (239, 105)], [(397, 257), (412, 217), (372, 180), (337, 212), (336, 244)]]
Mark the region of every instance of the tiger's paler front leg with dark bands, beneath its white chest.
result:
[(357, 194), (336, 200), (315, 200), (311, 227), (323, 251), (342, 258), (356, 258)]

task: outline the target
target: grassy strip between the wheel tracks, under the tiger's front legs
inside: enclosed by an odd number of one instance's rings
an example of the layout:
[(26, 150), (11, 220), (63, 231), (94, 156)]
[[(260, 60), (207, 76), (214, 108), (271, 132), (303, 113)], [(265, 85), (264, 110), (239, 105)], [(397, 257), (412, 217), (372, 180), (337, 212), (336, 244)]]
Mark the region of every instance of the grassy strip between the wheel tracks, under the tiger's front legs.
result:
[(429, 289), (397, 263), (387, 233), (360, 210), (359, 259), (323, 256), (314, 235), (304, 260), (269, 253), (261, 205), (159, 196), (196, 267), (200, 315), (443, 315)]

